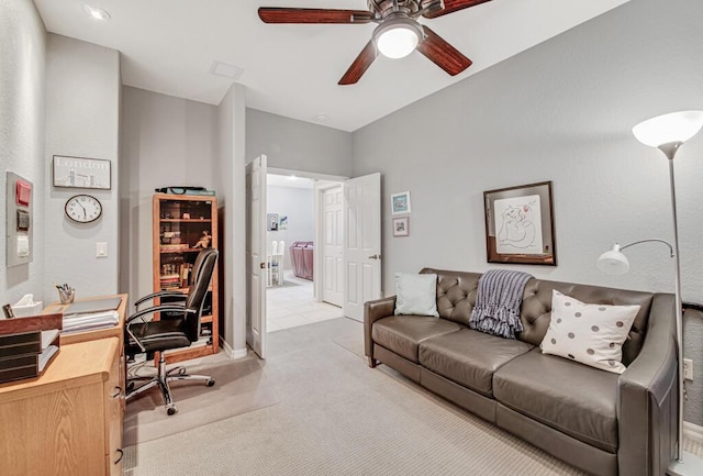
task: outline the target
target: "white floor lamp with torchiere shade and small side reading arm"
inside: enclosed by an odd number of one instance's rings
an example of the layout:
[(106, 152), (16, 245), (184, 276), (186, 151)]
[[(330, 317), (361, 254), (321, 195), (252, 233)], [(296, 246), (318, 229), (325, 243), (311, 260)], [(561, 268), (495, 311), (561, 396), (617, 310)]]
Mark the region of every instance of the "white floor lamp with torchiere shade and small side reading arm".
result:
[(627, 257), (622, 250), (639, 243), (661, 242), (669, 246), (674, 263), (674, 292), (677, 318), (677, 361), (679, 364), (679, 414), (677, 435), (677, 457), (667, 472), (671, 476), (703, 475), (703, 460), (683, 451), (683, 305), (681, 301), (681, 272), (679, 261), (679, 225), (677, 221), (677, 197), (673, 181), (673, 156), (679, 147), (693, 137), (703, 126), (703, 111), (680, 111), (648, 119), (633, 128), (635, 137), (645, 145), (657, 147), (669, 159), (669, 182), (671, 191), (671, 211), (673, 217), (673, 246), (663, 240), (643, 240), (625, 246), (615, 244), (601, 255), (598, 267), (610, 274), (623, 274), (629, 268)]

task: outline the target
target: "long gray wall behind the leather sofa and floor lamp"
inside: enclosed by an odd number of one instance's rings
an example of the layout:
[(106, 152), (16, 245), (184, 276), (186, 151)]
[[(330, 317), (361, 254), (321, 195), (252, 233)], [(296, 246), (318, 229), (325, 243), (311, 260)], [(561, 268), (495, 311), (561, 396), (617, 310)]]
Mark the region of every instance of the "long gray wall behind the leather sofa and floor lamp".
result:
[[(394, 294), (394, 272), (499, 267), (486, 262), (483, 191), (543, 180), (554, 181), (559, 265), (505, 267), (673, 291), (661, 245), (628, 250), (632, 268), (622, 277), (600, 274), (595, 259), (616, 241), (672, 239), (667, 159), (631, 129), (703, 109), (701, 19), (699, 0), (633, 0), (356, 131), (353, 175), (383, 174), (386, 292)], [(702, 157), (699, 134), (676, 159), (683, 298), (693, 302), (703, 302)], [(403, 190), (412, 197), (411, 235), (393, 239), (390, 195)], [(685, 353), (700, 355), (701, 346), (687, 340)], [(703, 424), (700, 411), (687, 420)]]

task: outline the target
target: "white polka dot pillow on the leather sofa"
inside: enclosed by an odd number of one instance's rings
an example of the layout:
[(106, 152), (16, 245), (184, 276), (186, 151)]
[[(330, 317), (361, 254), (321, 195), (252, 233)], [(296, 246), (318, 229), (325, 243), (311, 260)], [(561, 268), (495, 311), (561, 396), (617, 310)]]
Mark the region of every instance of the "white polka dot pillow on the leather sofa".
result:
[(639, 306), (587, 305), (554, 290), (551, 321), (539, 348), (543, 354), (622, 374), (622, 347), (637, 312)]

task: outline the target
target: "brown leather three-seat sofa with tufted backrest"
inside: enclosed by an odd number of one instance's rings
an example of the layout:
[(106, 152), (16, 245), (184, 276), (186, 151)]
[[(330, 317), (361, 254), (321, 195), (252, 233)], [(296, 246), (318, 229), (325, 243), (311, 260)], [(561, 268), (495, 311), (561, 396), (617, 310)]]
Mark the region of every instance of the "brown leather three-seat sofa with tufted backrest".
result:
[[(468, 328), (480, 274), (421, 273), (438, 276), (439, 318), (393, 316), (394, 297), (366, 302), (369, 366), (386, 364), (594, 475), (666, 473), (677, 435), (672, 295), (531, 279), (524, 331), (506, 340)], [(622, 375), (542, 354), (553, 289), (589, 303), (640, 306), (623, 345)]]

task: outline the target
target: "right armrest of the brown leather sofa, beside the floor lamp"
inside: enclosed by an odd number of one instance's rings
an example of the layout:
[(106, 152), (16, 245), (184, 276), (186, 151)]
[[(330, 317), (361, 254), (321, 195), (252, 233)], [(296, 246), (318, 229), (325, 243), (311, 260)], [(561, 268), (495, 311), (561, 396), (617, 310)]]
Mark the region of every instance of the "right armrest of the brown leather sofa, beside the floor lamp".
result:
[(672, 295), (654, 296), (643, 347), (618, 379), (621, 476), (662, 475), (674, 456), (679, 398), (674, 310)]

